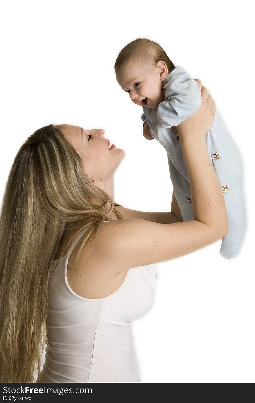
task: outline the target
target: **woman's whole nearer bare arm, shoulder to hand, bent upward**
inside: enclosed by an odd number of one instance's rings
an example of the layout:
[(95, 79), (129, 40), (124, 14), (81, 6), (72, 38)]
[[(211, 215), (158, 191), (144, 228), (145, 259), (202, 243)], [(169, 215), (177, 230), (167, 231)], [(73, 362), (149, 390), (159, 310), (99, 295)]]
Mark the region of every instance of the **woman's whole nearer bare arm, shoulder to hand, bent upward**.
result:
[(228, 233), (224, 195), (205, 143), (215, 104), (205, 87), (201, 96), (201, 108), (178, 127), (191, 184), (194, 220), (172, 224), (140, 219), (101, 222), (93, 256), (103, 270), (118, 274), (128, 268), (175, 259)]

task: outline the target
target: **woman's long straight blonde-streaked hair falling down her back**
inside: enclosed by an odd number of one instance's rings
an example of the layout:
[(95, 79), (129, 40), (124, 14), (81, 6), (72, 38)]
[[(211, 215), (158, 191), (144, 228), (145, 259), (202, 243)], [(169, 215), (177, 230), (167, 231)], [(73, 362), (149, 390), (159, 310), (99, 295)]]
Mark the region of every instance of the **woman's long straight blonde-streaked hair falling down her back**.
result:
[(54, 124), (28, 137), (10, 169), (0, 212), (2, 383), (35, 382), (35, 365), (40, 374), (48, 342), (50, 268), (63, 233), (79, 228), (69, 249), (87, 230), (75, 247), (77, 260), (84, 247), (91, 251), (98, 224), (108, 220), (106, 213), (120, 206), (87, 179), (83, 169), (81, 157)]

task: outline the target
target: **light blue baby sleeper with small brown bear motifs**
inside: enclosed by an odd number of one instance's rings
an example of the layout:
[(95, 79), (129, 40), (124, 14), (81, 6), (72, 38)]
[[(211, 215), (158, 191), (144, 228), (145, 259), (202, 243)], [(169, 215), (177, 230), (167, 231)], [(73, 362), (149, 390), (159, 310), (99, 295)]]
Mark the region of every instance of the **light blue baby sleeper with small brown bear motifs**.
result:
[[(147, 122), (154, 139), (168, 153), (170, 178), (174, 194), (184, 221), (193, 220), (189, 175), (176, 125), (192, 116), (201, 106), (201, 93), (197, 81), (181, 66), (168, 74), (164, 81), (166, 101), (157, 109), (143, 106), (141, 119)], [(217, 108), (214, 122), (205, 135), (207, 149), (219, 178), (228, 214), (228, 234), (222, 239), (220, 254), (234, 258), (243, 245), (247, 229), (243, 163)]]

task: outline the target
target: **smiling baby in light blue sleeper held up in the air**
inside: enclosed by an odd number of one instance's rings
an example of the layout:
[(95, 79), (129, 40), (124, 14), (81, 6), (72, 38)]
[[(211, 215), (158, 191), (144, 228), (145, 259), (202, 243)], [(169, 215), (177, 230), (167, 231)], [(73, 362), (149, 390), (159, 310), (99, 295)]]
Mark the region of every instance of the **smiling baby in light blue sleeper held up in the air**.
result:
[[(158, 140), (166, 149), (182, 218), (193, 220), (189, 175), (176, 125), (201, 106), (197, 81), (181, 66), (175, 67), (160, 45), (146, 38), (126, 45), (118, 54), (114, 69), (118, 84), (143, 108), (144, 137)], [(247, 228), (243, 164), (217, 108), (205, 141), (228, 213), (228, 234), (222, 239), (220, 254), (231, 259), (239, 253)]]

